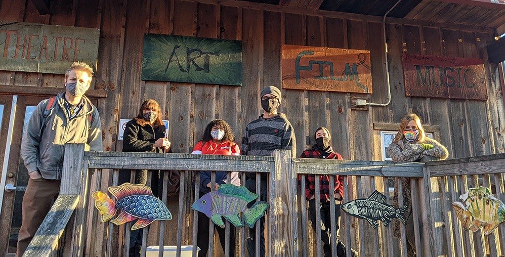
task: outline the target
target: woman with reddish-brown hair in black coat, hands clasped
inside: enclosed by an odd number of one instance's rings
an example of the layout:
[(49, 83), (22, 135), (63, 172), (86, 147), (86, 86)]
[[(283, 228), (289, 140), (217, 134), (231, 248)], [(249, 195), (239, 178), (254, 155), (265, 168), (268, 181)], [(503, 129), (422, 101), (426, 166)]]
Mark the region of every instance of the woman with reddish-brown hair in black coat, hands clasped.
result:
[[(128, 121), (123, 134), (123, 152), (164, 153), (171, 152), (170, 141), (166, 138), (165, 125), (158, 102), (147, 99), (142, 103), (139, 114)], [(163, 172), (151, 173), (151, 189), (153, 195), (161, 198), (163, 186), (167, 187), (169, 194), (174, 194), (179, 189), (179, 172), (169, 173), (169, 185), (162, 185)], [(137, 170), (135, 184), (147, 183), (147, 169)], [(121, 170), (119, 184), (130, 182), (129, 170)], [(140, 256), (142, 245), (142, 229), (137, 229), (130, 234), (130, 256)]]

